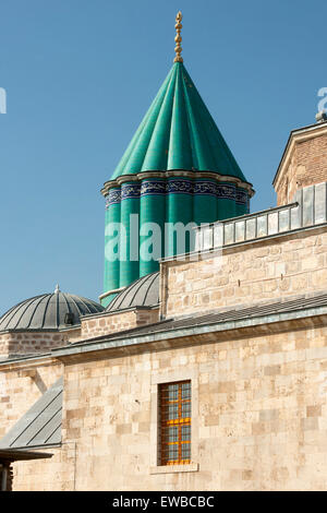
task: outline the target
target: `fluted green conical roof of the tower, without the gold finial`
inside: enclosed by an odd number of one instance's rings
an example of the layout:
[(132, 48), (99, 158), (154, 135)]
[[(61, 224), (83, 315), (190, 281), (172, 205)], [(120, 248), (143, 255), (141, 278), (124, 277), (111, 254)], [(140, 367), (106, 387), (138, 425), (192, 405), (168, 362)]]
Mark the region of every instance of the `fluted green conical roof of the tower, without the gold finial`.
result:
[(246, 181), (182, 62), (174, 62), (111, 180), (192, 168)]

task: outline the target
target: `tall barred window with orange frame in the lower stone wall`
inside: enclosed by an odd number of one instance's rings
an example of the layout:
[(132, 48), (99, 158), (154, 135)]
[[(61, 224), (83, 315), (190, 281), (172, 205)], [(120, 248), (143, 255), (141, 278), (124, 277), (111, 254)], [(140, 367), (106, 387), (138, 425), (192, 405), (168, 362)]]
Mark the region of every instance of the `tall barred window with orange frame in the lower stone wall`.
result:
[(191, 463), (191, 381), (160, 385), (161, 465)]

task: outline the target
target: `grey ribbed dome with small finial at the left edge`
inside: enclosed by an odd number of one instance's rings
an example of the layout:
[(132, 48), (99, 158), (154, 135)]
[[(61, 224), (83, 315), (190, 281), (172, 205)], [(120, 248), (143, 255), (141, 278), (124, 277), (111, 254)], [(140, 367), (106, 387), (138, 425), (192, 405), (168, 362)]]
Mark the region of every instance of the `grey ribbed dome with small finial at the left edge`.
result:
[(104, 307), (80, 296), (43, 294), (11, 308), (0, 318), (0, 332), (7, 330), (58, 330), (81, 324), (80, 315), (104, 311)]

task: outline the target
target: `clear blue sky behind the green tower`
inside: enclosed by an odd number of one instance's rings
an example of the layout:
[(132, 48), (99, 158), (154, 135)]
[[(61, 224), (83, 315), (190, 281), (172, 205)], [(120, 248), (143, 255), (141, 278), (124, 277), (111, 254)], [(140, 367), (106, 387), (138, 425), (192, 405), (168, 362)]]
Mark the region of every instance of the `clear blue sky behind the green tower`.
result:
[(289, 132), (315, 121), (327, 86), (326, 0), (0, 1), (0, 313), (61, 289), (102, 291), (104, 199), (172, 65), (183, 57), (256, 195)]

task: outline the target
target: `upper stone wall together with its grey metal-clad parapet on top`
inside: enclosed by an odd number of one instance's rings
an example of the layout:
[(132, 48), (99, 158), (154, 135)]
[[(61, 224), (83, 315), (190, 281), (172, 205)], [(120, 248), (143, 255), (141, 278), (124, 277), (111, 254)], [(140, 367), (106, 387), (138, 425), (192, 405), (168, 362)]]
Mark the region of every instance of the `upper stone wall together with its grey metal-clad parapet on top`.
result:
[(161, 315), (326, 290), (326, 183), (296, 194), (299, 204), (199, 228), (197, 253), (162, 261)]

